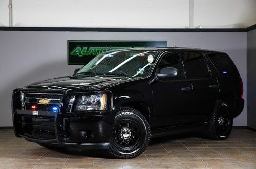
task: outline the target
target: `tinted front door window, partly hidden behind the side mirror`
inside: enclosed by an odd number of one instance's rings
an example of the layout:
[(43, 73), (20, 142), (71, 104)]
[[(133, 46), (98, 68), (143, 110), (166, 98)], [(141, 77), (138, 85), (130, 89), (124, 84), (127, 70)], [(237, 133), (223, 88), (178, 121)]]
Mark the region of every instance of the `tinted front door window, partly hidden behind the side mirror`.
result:
[(161, 69), (166, 67), (173, 67), (178, 69), (178, 76), (176, 78), (182, 77), (183, 73), (182, 73), (181, 60), (178, 53), (174, 52), (174, 53), (165, 54), (158, 64), (157, 73), (160, 73)]

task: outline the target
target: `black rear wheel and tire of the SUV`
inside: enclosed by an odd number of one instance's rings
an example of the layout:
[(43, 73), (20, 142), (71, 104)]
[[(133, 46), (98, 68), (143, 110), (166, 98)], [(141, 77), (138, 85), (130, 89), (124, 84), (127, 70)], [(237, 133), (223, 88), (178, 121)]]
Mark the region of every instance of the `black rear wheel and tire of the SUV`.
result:
[(216, 101), (214, 112), (206, 127), (206, 133), (210, 139), (227, 139), (232, 131), (233, 117), (224, 101)]

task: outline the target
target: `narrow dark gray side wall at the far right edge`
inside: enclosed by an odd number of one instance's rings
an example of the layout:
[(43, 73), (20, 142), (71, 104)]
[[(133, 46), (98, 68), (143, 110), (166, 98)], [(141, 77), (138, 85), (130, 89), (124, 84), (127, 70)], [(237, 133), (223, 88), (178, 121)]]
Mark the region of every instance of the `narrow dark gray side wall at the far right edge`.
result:
[(247, 33), (247, 124), (256, 129), (256, 29)]

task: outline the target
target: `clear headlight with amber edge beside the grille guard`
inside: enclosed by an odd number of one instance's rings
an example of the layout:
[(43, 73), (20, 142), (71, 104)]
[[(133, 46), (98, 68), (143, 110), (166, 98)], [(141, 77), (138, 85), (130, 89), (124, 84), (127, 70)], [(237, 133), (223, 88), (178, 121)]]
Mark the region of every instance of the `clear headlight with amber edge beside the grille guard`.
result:
[(107, 95), (105, 93), (81, 94), (78, 95), (76, 102), (76, 111), (87, 110), (106, 110)]

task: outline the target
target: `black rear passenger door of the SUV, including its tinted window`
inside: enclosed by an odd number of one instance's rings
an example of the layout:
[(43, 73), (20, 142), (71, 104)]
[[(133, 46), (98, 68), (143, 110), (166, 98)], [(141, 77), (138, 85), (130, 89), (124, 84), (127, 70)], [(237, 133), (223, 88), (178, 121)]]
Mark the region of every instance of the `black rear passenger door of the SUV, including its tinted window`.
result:
[(191, 121), (208, 121), (219, 93), (217, 78), (212, 75), (202, 53), (183, 52), (182, 62), (185, 76), (191, 80), (194, 92), (194, 114)]

